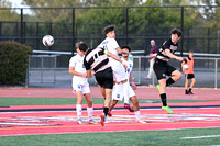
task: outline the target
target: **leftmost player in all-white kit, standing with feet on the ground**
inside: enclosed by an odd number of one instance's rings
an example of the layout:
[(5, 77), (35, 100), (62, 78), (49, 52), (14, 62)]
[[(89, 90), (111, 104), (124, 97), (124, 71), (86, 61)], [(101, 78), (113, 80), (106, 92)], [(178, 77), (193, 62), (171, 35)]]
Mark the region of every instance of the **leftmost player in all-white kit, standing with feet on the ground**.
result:
[(90, 89), (89, 83), (86, 75), (86, 68), (84, 66), (84, 54), (79, 50), (79, 45), (82, 42), (76, 43), (76, 52), (77, 55), (72, 57), (69, 60), (69, 74), (73, 76), (73, 89), (77, 97), (77, 103), (76, 103), (76, 111), (77, 111), (77, 123), (78, 124), (85, 124), (81, 119), (81, 102), (84, 100), (84, 97), (87, 101), (87, 112), (89, 116), (89, 124), (95, 124), (96, 122), (92, 120), (92, 99), (90, 97)]

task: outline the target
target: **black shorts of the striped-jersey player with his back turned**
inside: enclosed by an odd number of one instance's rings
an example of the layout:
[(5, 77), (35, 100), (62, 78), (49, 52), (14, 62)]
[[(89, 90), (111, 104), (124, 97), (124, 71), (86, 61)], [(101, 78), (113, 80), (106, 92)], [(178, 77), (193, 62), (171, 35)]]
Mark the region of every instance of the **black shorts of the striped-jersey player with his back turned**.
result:
[(113, 88), (113, 71), (111, 67), (107, 68), (103, 71), (99, 71), (95, 74), (96, 80), (99, 83), (99, 86), (112, 89)]

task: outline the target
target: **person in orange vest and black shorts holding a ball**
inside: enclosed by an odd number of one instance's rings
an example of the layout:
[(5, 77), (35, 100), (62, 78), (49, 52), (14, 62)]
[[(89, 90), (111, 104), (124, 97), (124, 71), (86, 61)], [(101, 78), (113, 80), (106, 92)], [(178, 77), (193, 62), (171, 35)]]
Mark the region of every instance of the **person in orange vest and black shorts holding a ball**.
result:
[[(194, 57), (194, 52), (189, 50), (189, 56), (182, 63), (183, 71), (186, 75), (185, 94), (194, 94), (191, 92), (191, 89), (194, 88), (194, 85), (196, 83), (196, 79), (194, 76), (194, 58), (193, 57)], [(191, 79), (191, 83), (188, 90), (188, 83), (190, 79)]]

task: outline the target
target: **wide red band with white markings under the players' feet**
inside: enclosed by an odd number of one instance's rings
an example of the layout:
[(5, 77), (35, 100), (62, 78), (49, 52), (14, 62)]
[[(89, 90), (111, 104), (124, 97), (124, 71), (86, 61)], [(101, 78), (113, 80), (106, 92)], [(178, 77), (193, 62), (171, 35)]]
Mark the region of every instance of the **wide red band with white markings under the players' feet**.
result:
[(154, 131), (177, 128), (220, 127), (220, 109), (173, 109), (175, 114), (166, 114), (162, 110), (141, 110), (142, 120), (146, 124), (135, 123), (133, 113), (124, 110), (112, 111), (113, 116), (101, 126), (99, 115), (95, 111), (98, 124), (88, 124), (87, 113), (82, 112), (85, 125), (76, 123), (76, 112), (23, 112), (0, 113), (0, 136), (63, 134), (118, 131)]

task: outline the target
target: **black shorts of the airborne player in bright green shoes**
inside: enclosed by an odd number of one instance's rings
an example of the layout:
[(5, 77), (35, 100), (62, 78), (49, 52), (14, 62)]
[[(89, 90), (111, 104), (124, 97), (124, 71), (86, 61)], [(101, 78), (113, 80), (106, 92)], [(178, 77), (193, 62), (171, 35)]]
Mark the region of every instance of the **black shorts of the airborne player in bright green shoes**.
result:
[(154, 63), (154, 72), (156, 74), (157, 80), (165, 79), (166, 76), (172, 76), (172, 72), (175, 70), (176, 68), (169, 66), (167, 61), (156, 59)]

